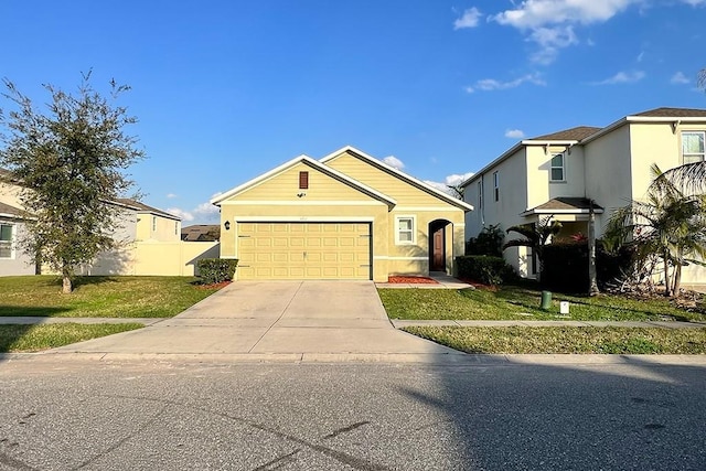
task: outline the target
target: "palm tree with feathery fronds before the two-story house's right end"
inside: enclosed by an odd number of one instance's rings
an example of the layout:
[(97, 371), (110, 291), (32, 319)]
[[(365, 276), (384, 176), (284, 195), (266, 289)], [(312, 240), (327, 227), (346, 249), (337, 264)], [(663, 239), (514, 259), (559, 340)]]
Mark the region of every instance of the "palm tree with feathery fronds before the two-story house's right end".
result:
[(646, 199), (613, 212), (608, 234), (632, 239), (643, 266), (657, 257), (664, 271), (664, 295), (678, 296), (682, 267), (705, 265), (706, 196), (686, 192), (657, 165), (652, 165), (652, 173)]

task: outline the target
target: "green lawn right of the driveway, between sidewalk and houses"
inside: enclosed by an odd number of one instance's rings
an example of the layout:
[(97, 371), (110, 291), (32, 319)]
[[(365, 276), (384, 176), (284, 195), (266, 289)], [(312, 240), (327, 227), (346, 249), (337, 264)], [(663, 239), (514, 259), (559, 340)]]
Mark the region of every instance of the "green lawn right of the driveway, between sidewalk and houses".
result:
[(569, 301), (570, 320), (648, 321), (673, 319), (706, 321), (706, 315), (670, 304), (667, 299), (646, 301), (619, 296), (553, 296), (548, 311), (539, 309), (541, 292), (521, 287), (483, 289), (378, 289), (391, 319), (409, 320), (556, 320), (559, 301)]

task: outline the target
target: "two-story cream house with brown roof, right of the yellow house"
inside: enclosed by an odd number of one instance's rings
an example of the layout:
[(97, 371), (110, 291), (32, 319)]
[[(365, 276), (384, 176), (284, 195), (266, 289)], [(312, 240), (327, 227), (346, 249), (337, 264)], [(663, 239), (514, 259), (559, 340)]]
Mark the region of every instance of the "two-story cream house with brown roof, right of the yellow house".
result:
[[(703, 161), (705, 133), (706, 109), (657, 108), (605, 128), (578, 127), (523, 140), (462, 183), (464, 201), (477, 210), (467, 215), (467, 235), (546, 217), (563, 223), (559, 238), (586, 235), (592, 207), (600, 237), (614, 208), (644, 197), (653, 163), (664, 171)], [(522, 276), (536, 272), (531, 250), (514, 247), (504, 255)], [(706, 282), (706, 271), (687, 267), (683, 281)]]

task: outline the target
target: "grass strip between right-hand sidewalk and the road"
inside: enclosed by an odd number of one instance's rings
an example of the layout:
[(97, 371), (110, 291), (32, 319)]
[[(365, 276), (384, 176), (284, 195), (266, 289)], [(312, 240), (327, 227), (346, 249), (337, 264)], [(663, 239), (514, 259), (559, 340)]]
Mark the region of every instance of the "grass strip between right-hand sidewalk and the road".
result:
[(706, 329), (408, 327), (403, 330), (467, 353), (706, 353)]

